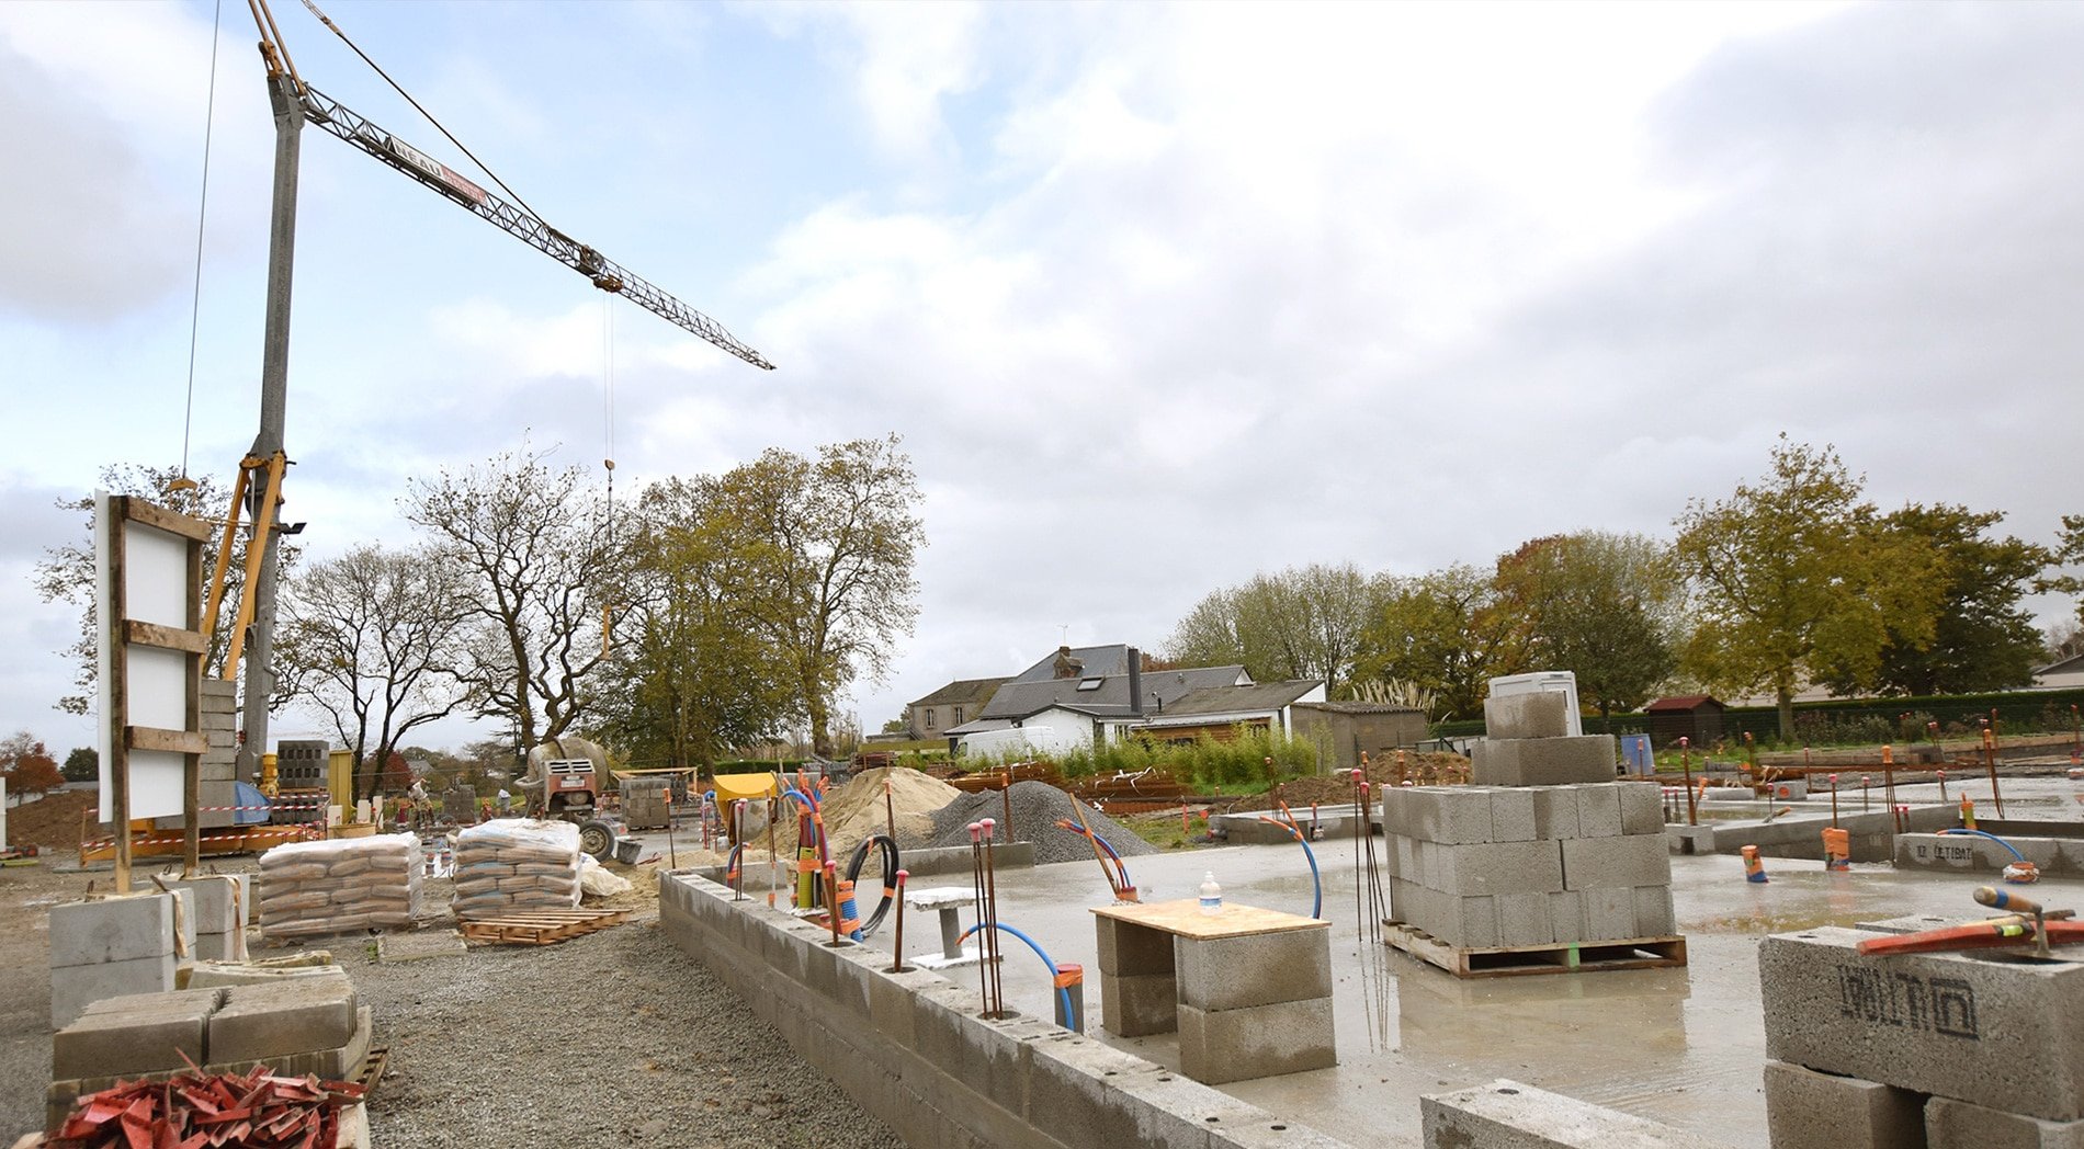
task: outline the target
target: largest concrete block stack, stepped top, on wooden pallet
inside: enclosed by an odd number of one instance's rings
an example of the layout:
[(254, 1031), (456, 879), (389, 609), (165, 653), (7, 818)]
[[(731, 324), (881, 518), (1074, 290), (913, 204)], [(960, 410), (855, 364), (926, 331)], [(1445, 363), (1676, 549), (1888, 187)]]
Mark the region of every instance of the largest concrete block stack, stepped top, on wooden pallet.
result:
[(1615, 781), (1567, 695), (1492, 697), (1484, 722), (1475, 785), (1382, 791), (1392, 916), (1459, 949), (1676, 935), (1657, 783)]

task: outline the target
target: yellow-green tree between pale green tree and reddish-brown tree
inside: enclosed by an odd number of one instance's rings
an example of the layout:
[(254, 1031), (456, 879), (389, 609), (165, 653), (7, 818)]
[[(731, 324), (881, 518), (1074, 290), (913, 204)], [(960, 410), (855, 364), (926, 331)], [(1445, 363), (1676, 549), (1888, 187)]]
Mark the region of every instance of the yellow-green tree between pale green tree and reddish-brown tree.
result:
[(1530, 670), (1532, 654), (1534, 627), (1498, 579), (1457, 564), (1386, 583), (1355, 672), (1432, 691), (1442, 718), (1469, 718), (1482, 714), (1490, 679)]

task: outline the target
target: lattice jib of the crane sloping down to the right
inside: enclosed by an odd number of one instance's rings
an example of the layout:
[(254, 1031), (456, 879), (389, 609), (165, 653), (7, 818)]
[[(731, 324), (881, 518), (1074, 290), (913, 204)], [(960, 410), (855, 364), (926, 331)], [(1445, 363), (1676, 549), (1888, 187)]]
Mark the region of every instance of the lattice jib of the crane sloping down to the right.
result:
[(500, 200), (492, 191), (486, 191), (477, 183), (471, 183), (458, 175), (448, 164), (427, 156), (419, 148), (413, 148), (404, 139), (398, 139), (390, 131), (369, 123), (365, 117), (346, 108), (338, 100), (321, 94), (308, 83), (302, 85), (304, 117), (323, 127), (327, 133), (361, 148), (363, 152), (383, 160), (386, 164), (411, 175), (419, 183), (440, 191), (444, 198), (477, 214), (486, 223), (492, 223), (500, 231), (521, 239), (523, 244), (536, 248), (538, 252), (550, 256), (552, 260), (577, 271), (579, 275), (594, 281), (594, 287), (629, 298), (636, 306), (665, 318), (667, 323), (690, 331), (717, 348), (750, 362), (773, 371), (767, 356), (748, 348), (736, 335), (723, 329), (721, 323), (709, 318), (706, 314), (690, 308), (688, 304), (665, 293), (656, 285), (638, 277), (629, 269), (617, 264), (615, 260), (602, 256), (600, 252), (575, 241), (563, 231), (550, 227), (548, 223), (536, 219), (506, 200)]

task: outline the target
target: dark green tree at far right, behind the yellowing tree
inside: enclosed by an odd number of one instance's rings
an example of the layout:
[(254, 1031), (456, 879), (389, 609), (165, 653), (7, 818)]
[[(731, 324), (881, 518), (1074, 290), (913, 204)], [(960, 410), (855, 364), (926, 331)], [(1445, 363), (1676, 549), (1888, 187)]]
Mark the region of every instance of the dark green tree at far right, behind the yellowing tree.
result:
[[(2042, 635), (2019, 599), (2055, 562), (2055, 554), (2013, 537), (1990, 537), (1988, 531), (2003, 520), (2003, 512), (1946, 504), (1913, 504), (1882, 518), (1884, 531), (1930, 545), (1940, 577), (1928, 641), (1903, 635), (1892, 620), (1874, 679), (1882, 693), (1926, 697), (2032, 683)], [(1836, 693), (1857, 689), (1842, 674), (1826, 685)]]

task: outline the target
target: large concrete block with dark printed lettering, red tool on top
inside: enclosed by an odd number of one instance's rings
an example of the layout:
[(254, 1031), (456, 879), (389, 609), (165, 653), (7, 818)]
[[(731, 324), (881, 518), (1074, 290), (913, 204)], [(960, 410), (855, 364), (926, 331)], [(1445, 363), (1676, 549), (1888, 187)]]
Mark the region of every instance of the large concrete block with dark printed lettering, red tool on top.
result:
[(1884, 935), (1817, 926), (1759, 945), (1767, 1057), (2049, 1122), (2084, 1118), (2084, 962), (1865, 957), (1865, 937)]

